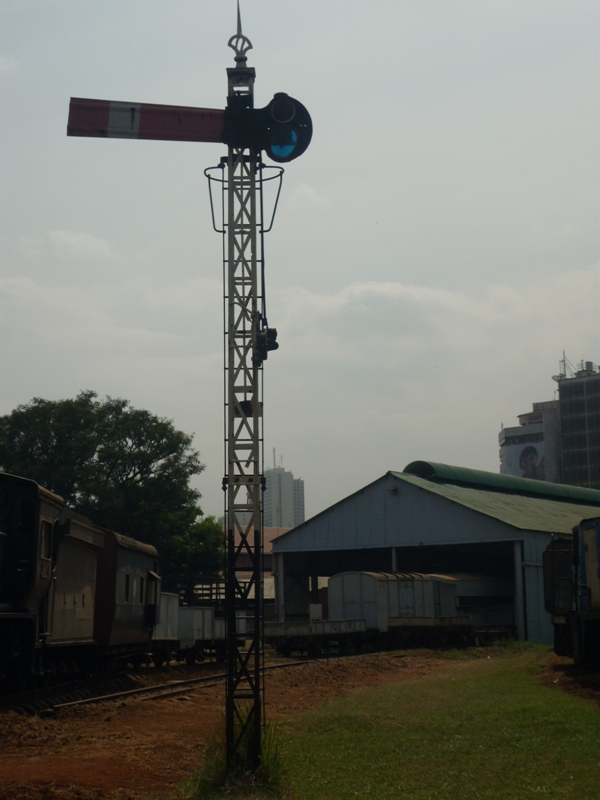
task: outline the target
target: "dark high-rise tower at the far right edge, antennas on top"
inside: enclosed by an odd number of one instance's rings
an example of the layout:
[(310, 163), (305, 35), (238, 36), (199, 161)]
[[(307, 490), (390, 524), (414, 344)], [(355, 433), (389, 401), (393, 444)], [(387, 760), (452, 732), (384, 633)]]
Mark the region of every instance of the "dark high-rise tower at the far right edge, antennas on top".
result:
[(555, 380), (560, 400), (563, 483), (600, 489), (600, 369), (591, 361), (582, 361), (575, 371), (561, 369)]

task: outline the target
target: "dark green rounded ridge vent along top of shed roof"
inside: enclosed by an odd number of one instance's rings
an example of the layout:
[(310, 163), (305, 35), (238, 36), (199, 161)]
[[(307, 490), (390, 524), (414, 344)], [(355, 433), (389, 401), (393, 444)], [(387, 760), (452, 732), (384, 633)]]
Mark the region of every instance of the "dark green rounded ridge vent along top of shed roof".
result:
[(567, 486), (562, 483), (534, 481), (497, 472), (484, 472), (467, 467), (453, 467), (433, 461), (413, 461), (404, 468), (407, 475), (416, 475), (435, 483), (472, 486), (488, 491), (520, 494), (526, 497), (546, 497), (563, 503), (579, 503), (600, 506), (600, 491), (584, 486)]

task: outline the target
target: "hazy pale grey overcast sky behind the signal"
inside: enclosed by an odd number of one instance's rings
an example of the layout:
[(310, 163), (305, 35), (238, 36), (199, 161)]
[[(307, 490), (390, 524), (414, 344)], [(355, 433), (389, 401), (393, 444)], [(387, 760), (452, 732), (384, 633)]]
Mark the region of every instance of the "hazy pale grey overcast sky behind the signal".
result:
[[(596, 0), (242, 0), (313, 141), (266, 240), (265, 448), (307, 515), (600, 360)], [(69, 98), (222, 108), (234, 0), (0, 0), (0, 414), (81, 389), (195, 434), (222, 513), (215, 144), (67, 138)]]

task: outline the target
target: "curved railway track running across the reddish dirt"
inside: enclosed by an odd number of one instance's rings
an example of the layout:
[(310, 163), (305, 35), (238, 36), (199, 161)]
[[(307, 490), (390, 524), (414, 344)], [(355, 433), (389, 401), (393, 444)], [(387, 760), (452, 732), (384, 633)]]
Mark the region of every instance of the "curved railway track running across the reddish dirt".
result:
[[(265, 672), (273, 672), (280, 669), (289, 669), (306, 664), (307, 660), (290, 661), (283, 664), (271, 664), (265, 666)], [(204, 675), (186, 680), (167, 681), (165, 683), (154, 684), (151, 686), (141, 686), (134, 689), (121, 689), (119, 684), (122, 681), (114, 679), (109, 682), (111, 691), (104, 691), (94, 694), (85, 682), (79, 681), (73, 684), (63, 684), (56, 690), (38, 690), (28, 692), (19, 697), (4, 698), (1, 711), (14, 711), (27, 716), (53, 716), (62, 711), (73, 708), (92, 705), (95, 703), (110, 703), (129, 699), (141, 700), (160, 700), (165, 697), (175, 697), (185, 694), (190, 689), (199, 687), (217, 686), (225, 680), (225, 673), (219, 672), (212, 675)]]

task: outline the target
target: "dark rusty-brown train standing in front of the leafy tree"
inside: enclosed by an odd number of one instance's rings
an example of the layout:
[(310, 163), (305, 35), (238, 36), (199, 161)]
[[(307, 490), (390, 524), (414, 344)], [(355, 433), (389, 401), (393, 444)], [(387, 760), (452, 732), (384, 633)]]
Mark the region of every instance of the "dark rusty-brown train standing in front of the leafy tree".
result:
[(147, 654), (154, 547), (94, 525), (32, 480), (0, 473), (0, 686)]

